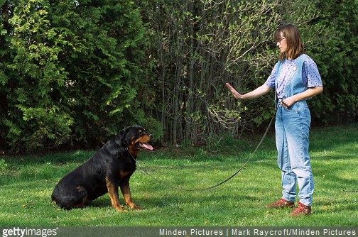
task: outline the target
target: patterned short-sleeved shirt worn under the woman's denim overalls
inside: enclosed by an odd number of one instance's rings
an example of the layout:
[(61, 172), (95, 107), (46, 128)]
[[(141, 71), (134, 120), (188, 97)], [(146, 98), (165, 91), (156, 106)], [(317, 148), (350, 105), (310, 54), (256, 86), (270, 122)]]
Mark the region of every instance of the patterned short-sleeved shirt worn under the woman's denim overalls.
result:
[[(276, 88), (276, 93), (278, 98), (282, 98), (281, 94), (283, 89), (285, 89), (285, 84), (287, 79), (290, 79), (293, 76), (295, 70), (292, 70), (293, 67), (296, 67), (295, 60), (284, 60), (281, 64), (280, 75), (277, 78), (278, 88)], [(273, 67), (271, 75), (268, 76), (265, 84), (268, 87), (275, 89), (275, 78), (277, 72), (277, 64)], [(320, 77), (320, 72), (318, 72), (318, 67), (315, 64), (315, 61), (311, 57), (307, 57), (303, 62), (302, 67), (302, 82), (308, 88), (310, 87), (322, 87), (322, 79)]]

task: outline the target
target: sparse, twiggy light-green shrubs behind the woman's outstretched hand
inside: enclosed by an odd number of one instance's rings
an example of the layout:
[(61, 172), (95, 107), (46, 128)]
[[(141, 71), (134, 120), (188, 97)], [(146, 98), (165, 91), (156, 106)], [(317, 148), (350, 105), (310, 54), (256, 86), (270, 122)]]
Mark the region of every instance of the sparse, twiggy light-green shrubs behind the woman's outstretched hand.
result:
[(317, 14), (311, 1), (151, 4), (148, 9), (155, 10), (149, 10), (148, 21), (158, 32), (152, 38), (153, 55), (162, 82), (158, 104), (166, 140), (173, 144), (211, 144), (215, 134), (239, 136), (266, 124), (273, 115), (273, 94), (237, 103), (224, 83), (243, 93), (263, 84), (277, 61), (272, 42), (277, 26), (287, 21), (303, 25)]

